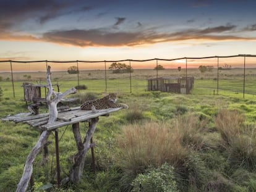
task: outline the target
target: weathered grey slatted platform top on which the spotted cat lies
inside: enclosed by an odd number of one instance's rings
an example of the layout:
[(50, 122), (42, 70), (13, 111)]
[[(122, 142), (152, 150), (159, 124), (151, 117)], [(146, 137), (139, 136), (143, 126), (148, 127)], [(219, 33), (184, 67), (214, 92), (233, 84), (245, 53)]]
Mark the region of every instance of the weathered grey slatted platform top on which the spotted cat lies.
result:
[(70, 109), (64, 109), (64, 111), (58, 111), (58, 119), (56, 122), (50, 124), (47, 124), (49, 119), (48, 113), (38, 115), (32, 115), (30, 112), (20, 113), (4, 117), (2, 120), (9, 120), (15, 123), (27, 123), (34, 128), (39, 128), (40, 130), (54, 130), (65, 125), (87, 122), (88, 120), (99, 116), (108, 116), (109, 113), (119, 111), (120, 109), (122, 109), (122, 107), (101, 109), (97, 110), (97, 112), (93, 112), (81, 110), (80, 107), (73, 107)]

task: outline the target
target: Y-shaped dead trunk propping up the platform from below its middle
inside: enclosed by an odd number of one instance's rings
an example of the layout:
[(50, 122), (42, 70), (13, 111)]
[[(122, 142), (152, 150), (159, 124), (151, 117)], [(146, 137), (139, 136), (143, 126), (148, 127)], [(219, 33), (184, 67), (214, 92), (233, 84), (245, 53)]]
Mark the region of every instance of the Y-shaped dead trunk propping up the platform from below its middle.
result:
[(78, 183), (82, 176), (83, 167), (85, 165), (85, 154), (92, 147), (92, 145), (90, 144), (90, 140), (96, 129), (97, 123), (98, 123), (98, 117), (96, 117), (95, 119), (92, 119), (92, 123), (90, 123), (90, 127), (89, 127), (89, 130), (87, 131), (83, 144), (82, 144), (82, 139), (79, 131), (79, 125), (75, 125), (73, 127), (73, 132), (75, 136), (75, 141), (77, 143), (78, 152), (77, 154), (75, 154), (75, 163), (72, 169), (70, 170), (70, 174), (69, 174), (69, 178), (72, 183)]

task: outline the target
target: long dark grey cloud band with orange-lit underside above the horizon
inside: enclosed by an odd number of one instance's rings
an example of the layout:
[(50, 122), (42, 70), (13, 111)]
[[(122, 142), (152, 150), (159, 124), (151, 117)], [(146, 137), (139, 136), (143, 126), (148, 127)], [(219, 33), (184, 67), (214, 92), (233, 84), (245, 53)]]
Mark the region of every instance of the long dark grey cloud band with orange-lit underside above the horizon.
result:
[[(106, 29), (65, 30), (45, 33), (41, 40), (74, 46), (137, 46), (140, 44), (155, 44), (168, 41), (184, 40), (255, 40), (234, 35), (226, 35), (234, 30), (235, 25), (218, 26), (204, 29), (188, 29), (175, 33), (158, 33), (154, 30), (139, 30), (132, 32), (113, 32)], [(224, 33), (225, 35), (223, 35)]]

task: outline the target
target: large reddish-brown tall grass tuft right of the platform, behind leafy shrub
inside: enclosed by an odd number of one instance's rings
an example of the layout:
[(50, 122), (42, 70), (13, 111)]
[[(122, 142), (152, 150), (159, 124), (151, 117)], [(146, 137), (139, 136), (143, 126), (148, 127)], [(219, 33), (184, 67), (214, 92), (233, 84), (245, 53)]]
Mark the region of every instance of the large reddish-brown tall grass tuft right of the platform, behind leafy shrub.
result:
[(179, 142), (177, 132), (162, 123), (134, 123), (124, 128), (117, 143), (121, 148), (121, 165), (135, 175), (150, 165), (160, 167), (164, 162), (172, 165), (182, 164), (187, 151)]

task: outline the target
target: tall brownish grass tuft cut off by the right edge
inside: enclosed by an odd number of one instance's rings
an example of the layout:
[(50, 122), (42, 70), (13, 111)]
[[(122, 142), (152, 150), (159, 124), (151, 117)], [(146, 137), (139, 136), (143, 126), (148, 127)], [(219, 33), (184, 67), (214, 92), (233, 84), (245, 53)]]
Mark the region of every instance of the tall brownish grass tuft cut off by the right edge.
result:
[(245, 117), (238, 111), (220, 111), (216, 127), (233, 166), (256, 169), (255, 126), (245, 125)]

